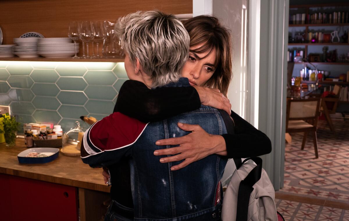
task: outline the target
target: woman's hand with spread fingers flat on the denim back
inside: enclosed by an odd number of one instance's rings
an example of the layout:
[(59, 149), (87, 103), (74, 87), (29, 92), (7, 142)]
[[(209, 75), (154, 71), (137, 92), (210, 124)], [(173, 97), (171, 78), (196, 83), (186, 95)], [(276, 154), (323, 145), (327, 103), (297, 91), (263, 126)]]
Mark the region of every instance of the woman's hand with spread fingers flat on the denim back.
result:
[(192, 125), (186, 123), (178, 123), (178, 127), (192, 133), (183, 137), (175, 137), (156, 141), (157, 145), (179, 145), (168, 149), (160, 149), (154, 151), (154, 155), (174, 155), (160, 159), (161, 163), (169, 163), (181, 161), (178, 165), (171, 167), (171, 170), (179, 170), (190, 163), (205, 158), (211, 154), (227, 156), (227, 147), (225, 140), (221, 135), (208, 134), (200, 125)]

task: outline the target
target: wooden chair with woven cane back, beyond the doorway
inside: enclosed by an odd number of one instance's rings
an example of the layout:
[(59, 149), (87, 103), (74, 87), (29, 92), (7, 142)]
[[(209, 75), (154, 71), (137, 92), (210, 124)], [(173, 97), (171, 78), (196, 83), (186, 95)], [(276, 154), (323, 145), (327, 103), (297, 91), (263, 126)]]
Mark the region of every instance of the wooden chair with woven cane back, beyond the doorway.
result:
[(306, 137), (312, 133), (314, 140), (315, 158), (318, 158), (318, 138), (316, 127), (319, 118), (319, 98), (288, 99), (286, 112), (286, 133), (304, 132), (302, 150)]

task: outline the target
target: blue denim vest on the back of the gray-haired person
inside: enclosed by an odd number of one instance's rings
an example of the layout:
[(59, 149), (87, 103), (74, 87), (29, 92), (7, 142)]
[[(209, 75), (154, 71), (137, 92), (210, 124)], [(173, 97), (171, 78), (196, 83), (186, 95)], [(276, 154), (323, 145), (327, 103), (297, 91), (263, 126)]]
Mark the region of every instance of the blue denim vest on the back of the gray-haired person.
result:
[[(169, 85), (168, 85), (169, 86)], [(172, 86), (172, 85), (171, 85)], [(181, 78), (173, 86), (189, 86)], [(217, 220), (223, 193), (220, 180), (227, 158), (216, 154), (171, 171), (180, 162), (160, 163), (163, 156), (153, 152), (165, 148), (157, 140), (189, 134), (178, 128), (177, 122), (199, 124), (207, 133), (227, 133), (221, 114), (215, 108), (183, 113), (169, 119), (151, 122), (132, 145), (131, 185), (135, 220)], [(171, 148), (173, 146), (166, 146)], [(170, 155), (169, 155), (170, 156)], [(217, 216), (217, 217), (216, 217)]]

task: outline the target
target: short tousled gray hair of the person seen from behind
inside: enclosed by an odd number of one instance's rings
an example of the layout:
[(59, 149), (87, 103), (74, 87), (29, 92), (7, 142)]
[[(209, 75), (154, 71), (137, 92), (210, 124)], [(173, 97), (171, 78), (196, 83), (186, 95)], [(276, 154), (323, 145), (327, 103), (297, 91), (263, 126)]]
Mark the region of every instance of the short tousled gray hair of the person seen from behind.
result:
[(115, 26), (122, 48), (135, 64), (139, 59), (152, 87), (177, 82), (188, 59), (190, 37), (174, 16), (159, 10), (120, 17)]

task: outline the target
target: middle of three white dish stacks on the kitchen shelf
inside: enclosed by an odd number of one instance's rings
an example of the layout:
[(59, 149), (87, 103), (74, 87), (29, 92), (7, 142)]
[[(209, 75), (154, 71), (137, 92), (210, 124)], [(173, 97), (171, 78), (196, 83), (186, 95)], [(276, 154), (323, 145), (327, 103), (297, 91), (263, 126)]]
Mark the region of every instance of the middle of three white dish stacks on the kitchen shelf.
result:
[(13, 54), (22, 58), (38, 57), (36, 43), (39, 38), (13, 38), (17, 45), (13, 46)]

